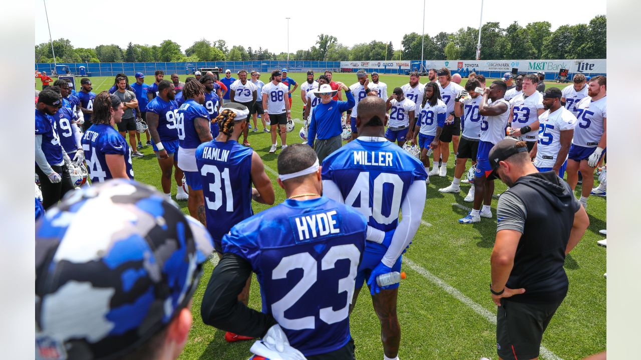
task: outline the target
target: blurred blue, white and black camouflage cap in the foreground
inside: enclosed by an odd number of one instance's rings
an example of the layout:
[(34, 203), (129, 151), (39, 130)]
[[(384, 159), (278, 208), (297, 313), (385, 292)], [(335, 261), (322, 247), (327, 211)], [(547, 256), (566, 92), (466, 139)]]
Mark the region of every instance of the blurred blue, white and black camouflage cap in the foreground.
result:
[(151, 186), (69, 192), (36, 224), (36, 358), (122, 357), (197, 288), (212, 238)]

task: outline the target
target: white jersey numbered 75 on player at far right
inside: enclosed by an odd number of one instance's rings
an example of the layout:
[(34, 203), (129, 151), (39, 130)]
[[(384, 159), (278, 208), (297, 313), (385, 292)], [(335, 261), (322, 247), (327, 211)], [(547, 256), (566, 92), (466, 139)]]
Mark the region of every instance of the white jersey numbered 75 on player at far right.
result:
[(578, 126), (574, 129), (574, 145), (596, 147), (603, 135), (603, 119), (606, 119), (606, 99), (602, 97), (597, 101), (587, 96), (579, 101), (576, 106), (576, 119)]

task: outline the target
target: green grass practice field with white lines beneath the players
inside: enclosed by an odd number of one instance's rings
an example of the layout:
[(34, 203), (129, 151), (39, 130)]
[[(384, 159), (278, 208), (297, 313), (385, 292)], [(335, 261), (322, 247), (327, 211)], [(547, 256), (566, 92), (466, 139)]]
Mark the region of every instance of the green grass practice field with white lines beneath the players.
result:
[[(128, 75), (133, 81), (133, 74)], [(301, 82), (306, 78), (303, 73), (289, 75)], [(186, 77), (181, 75), (181, 81)], [(165, 78), (169, 79), (169, 74)], [(145, 79), (147, 83), (152, 83), (153, 74), (148, 74)], [(263, 73), (261, 79), (263, 82), (269, 81), (269, 74)], [(113, 77), (92, 77), (91, 80), (96, 93), (113, 85)], [(334, 80), (344, 81), (349, 86), (356, 82), (356, 75), (334, 74)], [(388, 93), (391, 94), (394, 87), (408, 82), (408, 76), (381, 75), (381, 81), (387, 83)], [(76, 84), (79, 86), (79, 79)], [(547, 87), (563, 88), (567, 85), (547, 83)], [(292, 119), (301, 119), (299, 89), (292, 97)], [(278, 204), (285, 199), (285, 193), (276, 183), (276, 158), (280, 150), (276, 154), (268, 153), (270, 134), (262, 132), (260, 120), (258, 124), (259, 132), (250, 131), (249, 143), (265, 163)], [(288, 143), (302, 142), (298, 136), (301, 124), (300, 121), (296, 122), (296, 130), (287, 136)], [(143, 143), (146, 141), (144, 135), (142, 140)], [(160, 170), (151, 146), (145, 147), (142, 152), (144, 158), (133, 159), (135, 178), (160, 189)], [(404, 360), (461, 360), (479, 359), (481, 356), (497, 359), (496, 306), (488, 290), (496, 220), (483, 218), (478, 224), (458, 224), (457, 220), (464, 217), (471, 207), (470, 203), (463, 202), (469, 184), (462, 184), (460, 194), (438, 192), (439, 188), (449, 185), (453, 174), (454, 155), (451, 154), (447, 177), (430, 177), (422, 225), (412, 246), (403, 256), (403, 270), (408, 277), (401, 282), (398, 314), (403, 334), (399, 357)], [(595, 181), (595, 184), (598, 182)], [(175, 195), (173, 186), (172, 193)], [(577, 196), (580, 193), (579, 186)], [(496, 181), (495, 193), (505, 190), (506, 186)], [(178, 203), (188, 213), (187, 201)], [(255, 202), (253, 206), (254, 212), (267, 208)], [(496, 215), (496, 196), (492, 201), (492, 213)], [(545, 332), (542, 359), (581, 359), (606, 348), (606, 279), (603, 277), (606, 272), (606, 249), (596, 243), (604, 238), (599, 230), (606, 228), (606, 199), (590, 197), (588, 216), (590, 227), (565, 261), (570, 290)], [(194, 325), (180, 359), (247, 359), (251, 355), (249, 347), (253, 341), (226, 343), (224, 332), (204, 325), (201, 320), (201, 299), (213, 266), (213, 263), (206, 265), (203, 279), (194, 295)], [(260, 309), (260, 293), (255, 276), (249, 306)], [(361, 291), (351, 316), (351, 333), (356, 342), (357, 359), (383, 357), (378, 318), (372, 309), (368, 291)]]

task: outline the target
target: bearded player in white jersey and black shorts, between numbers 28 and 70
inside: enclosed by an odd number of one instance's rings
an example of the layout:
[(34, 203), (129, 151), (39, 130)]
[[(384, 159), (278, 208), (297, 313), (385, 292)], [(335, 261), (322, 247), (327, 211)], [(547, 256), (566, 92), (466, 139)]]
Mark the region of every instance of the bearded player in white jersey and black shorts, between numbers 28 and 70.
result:
[(447, 105), (447, 119), (445, 126), (438, 138), (440, 147), (434, 149), (434, 158), (441, 159), (440, 168), (435, 171), (432, 169), (429, 175), (447, 176), (447, 160), (449, 160), (449, 143), (452, 143), (454, 154), (458, 151), (458, 140), (461, 135), (461, 118), (454, 115), (454, 98), (457, 97), (465, 88), (452, 81), (452, 76), (447, 67), (443, 67), (437, 72), (438, 90), (440, 90), (441, 99)]

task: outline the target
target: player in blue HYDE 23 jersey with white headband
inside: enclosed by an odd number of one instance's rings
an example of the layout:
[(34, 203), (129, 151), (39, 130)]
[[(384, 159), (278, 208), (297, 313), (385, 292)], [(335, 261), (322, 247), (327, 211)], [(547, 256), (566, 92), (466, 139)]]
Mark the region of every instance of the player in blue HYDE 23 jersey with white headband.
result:
[[(385, 102), (378, 100), (385, 117)], [(203, 297), (203, 322), (262, 336), (263, 343), (254, 346), (275, 345), (279, 352), (294, 354), (283, 359), (353, 360), (349, 307), (367, 220), (320, 195), (321, 169), (311, 147), (293, 144), (283, 150), (278, 172), (287, 199), (222, 238), (223, 256)], [(237, 300), (252, 272), (260, 283), (262, 312)]]

